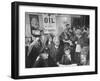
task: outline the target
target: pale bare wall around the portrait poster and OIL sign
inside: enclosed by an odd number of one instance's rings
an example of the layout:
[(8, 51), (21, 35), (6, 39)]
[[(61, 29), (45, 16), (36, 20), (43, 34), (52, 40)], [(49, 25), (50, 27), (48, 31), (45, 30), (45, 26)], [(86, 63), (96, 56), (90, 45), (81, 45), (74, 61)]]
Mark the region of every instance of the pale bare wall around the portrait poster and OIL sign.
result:
[[(40, 28), (43, 28), (43, 17), (40, 14), (38, 14), (38, 16), (39, 16)], [(26, 23), (26, 25), (25, 25), (25, 37), (31, 37), (29, 13), (26, 13), (25, 23)], [(70, 15), (58, 15), (58, 16), (56, 16), (55, 36), (59, 37), (59, 35), (64, 31), (66, 24), (71, 25), (71, 16)]]

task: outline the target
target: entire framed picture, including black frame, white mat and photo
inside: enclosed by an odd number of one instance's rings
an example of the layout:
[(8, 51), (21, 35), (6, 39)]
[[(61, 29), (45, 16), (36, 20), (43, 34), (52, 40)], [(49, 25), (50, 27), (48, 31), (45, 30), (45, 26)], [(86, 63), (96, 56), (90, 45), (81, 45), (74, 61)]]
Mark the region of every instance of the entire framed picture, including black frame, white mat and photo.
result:
[(97, 74), (97, 7), (13, 2), (11, 77), (84, 74)]

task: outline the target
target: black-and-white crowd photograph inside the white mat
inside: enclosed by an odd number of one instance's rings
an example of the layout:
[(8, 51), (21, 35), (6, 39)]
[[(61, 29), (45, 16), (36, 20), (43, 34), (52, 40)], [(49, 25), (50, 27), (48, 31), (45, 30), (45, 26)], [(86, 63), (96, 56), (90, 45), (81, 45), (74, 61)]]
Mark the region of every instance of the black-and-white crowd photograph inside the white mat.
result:
[(89, 65), (89, 15), (25, 12), (25, 67)]

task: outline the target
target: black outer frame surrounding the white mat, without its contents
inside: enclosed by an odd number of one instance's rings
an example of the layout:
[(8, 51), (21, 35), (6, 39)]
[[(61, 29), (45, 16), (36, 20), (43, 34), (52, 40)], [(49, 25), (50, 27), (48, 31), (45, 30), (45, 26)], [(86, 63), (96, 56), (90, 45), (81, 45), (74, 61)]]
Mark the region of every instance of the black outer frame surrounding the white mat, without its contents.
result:
[[(74, 72), (74, 73), (59, 73), (59, 74), (42, 74), (42, 75), (19, 75), (19, 6), (40, 6), (40, 7), (54, 7), (54, 8), (72, 8), (72, 9), (89, 9), (95, 11), (95, 71), (90, 72)], [(49, 4), (49, 3), (31, 3), (31, 2), (12, 2), (11, 4), (11, 77), (13, 79), (25, 78), (42, 78), (42, 77), (58, 77), (58, 76), (73, 76), (73, 75), (89, 75), (97, 74), (98, 62), (98, 35), (97, 35), (97, 12), (96, 6), (81, 6), (81, 5), (62, 5), (62, 4)]]

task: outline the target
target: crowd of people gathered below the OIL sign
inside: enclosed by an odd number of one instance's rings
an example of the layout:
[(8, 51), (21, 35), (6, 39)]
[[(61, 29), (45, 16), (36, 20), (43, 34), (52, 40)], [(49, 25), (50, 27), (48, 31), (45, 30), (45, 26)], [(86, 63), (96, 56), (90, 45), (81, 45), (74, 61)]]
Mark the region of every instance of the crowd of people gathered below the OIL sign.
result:
[[(34, 22), (34, 20), (33, 20)], [(26, 46), (26, 68), (89, 65), (89, 27), (70, 27), (60, 36), (45, 34), (32, 25), (32, 38)]]

